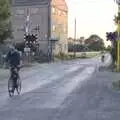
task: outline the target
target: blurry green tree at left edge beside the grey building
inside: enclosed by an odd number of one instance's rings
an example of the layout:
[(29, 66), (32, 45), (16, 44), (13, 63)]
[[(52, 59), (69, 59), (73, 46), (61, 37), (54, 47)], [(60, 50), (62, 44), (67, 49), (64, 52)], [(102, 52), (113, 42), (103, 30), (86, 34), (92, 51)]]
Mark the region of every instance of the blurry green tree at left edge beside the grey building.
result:
[(9, 0), (0, 0), (0, 43), (12, 37), (10, 15)]

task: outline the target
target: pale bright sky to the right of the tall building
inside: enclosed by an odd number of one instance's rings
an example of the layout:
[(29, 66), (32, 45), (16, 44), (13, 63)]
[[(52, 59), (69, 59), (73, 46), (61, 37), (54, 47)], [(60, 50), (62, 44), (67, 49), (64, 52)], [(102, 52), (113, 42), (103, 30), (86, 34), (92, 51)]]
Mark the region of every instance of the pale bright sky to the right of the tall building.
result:
[(114, 0), (66, 0), (68, 4), (68, 37), (74, 37), (74, 21), (76, 18), (77, 38), (88, 38), (97, 34), (106, 42), (106, 32), (116, 29), (114, 16), (117, 5)]

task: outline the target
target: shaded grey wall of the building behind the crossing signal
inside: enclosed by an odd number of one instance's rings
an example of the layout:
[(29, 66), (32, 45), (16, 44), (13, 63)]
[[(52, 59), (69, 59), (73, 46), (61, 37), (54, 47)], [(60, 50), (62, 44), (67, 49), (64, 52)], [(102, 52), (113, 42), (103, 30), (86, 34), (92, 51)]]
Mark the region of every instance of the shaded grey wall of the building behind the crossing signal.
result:
[[(48, 50), (48, 5), (17, 6), (12, 8), (14, 40), (15, 42), (24, 40), (27, 8), (29, 8), (30, 13), (29, 32), (38, 34), (40, 49), (46, 53)], [(39, 30), (35, 30), (38, 25)]]

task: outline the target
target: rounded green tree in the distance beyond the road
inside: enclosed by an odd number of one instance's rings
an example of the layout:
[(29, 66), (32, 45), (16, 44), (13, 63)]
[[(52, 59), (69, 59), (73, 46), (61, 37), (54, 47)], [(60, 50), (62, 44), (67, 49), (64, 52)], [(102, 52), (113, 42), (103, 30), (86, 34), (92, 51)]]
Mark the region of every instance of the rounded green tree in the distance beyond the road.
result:
[(91, 35), (88, 39), (85, 40), (85, 44), (90, 50), (99, 51), (104, 49), (103, 39), (98, 35)]

